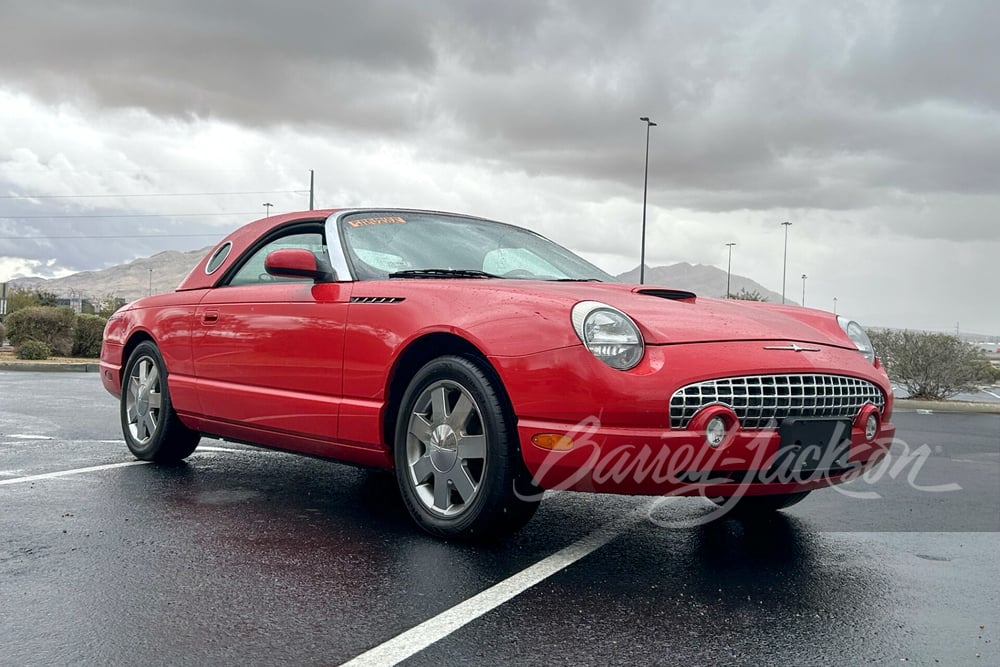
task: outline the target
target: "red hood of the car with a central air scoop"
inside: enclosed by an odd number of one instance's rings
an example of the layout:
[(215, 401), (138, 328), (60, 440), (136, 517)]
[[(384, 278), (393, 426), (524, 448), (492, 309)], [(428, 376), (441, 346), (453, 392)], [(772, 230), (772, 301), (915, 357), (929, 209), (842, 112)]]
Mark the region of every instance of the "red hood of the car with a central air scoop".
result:
[(736, 299), (696, 297), (653, 285), (547, 283), (576, 301), (601, 301), (629, 317), (647, 343), (783, 341), (854, 349), (833, 313)]

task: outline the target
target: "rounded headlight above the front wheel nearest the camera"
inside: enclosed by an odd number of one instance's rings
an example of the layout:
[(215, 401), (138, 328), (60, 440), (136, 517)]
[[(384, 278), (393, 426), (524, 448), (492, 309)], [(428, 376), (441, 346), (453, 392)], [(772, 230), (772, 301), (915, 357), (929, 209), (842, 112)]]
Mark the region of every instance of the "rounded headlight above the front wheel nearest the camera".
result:
[(622, 311), (599, 301), (581, 301), (573, 306), (572, 316), (576, 335), (611, 368), (627, 371), (642, 361), (642, 334)]

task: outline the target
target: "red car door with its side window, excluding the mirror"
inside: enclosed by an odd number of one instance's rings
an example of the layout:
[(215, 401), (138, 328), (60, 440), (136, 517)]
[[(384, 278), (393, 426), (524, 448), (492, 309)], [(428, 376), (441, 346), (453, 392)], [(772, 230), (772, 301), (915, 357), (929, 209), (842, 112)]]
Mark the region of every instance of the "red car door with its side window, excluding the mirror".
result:
[(326, 259), (323, 239), (322, 225), (281, 230), (202, 299), (192, 350), (206, 430), (277, 446), (282, 434), (336, 438), (351, 283), (314, 284), (264, 269), (281, 248)]

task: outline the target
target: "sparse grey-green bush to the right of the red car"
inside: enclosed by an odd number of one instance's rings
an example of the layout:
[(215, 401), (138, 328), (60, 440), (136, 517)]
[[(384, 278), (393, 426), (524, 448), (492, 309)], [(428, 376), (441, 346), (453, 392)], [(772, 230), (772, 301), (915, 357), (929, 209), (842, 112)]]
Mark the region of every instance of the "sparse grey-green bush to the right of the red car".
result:
[(911, 398), (941, 401), (989, 381), (983, 352), (955, 336), (888, 329), (869, 335), (889, 378)]

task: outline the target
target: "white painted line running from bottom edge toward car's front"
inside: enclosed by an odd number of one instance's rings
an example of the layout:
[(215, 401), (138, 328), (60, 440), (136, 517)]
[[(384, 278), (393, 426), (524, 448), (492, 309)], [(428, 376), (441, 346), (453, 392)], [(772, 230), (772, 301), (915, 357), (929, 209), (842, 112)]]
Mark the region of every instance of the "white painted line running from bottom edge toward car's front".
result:
[(395, 665), (402, 662), (483, 614), (520, 595), (535, 584), (548, 579), (556, 572), (600, 549), (621, 535), (633, 523), (634, 521), (628, 521), (625, 525), (619, 523), (615, 528), (610, 525), (599, 528), (565, 549), (557, 551), (485, 591), (473, 595), (451, 609), (447, 609), (420, 625), (396, 635), (389, 641), (365, 651), (356, 658), (345, 662), (342, 667)]

